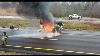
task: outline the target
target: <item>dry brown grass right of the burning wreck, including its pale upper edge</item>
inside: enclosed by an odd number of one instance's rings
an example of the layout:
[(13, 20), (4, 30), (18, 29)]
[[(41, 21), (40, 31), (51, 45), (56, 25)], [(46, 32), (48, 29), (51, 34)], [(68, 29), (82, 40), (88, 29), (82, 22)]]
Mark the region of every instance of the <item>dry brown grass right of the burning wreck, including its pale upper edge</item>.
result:
[(90, 30), (90, 31), (100, 31), (100, 20), (97, 21), (68, 21), (64, 20), (64, 27), (66, 29), (79, 29), (79, 30)]

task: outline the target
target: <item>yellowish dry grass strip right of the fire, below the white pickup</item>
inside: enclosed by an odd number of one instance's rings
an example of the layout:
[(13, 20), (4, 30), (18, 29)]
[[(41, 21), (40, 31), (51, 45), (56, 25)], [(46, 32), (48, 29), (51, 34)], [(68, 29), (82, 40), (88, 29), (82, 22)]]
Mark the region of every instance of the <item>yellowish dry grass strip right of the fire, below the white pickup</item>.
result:
[(90, 22), (63, 22), (65, 29), (100, 31), (100, 24), (93, 24)]

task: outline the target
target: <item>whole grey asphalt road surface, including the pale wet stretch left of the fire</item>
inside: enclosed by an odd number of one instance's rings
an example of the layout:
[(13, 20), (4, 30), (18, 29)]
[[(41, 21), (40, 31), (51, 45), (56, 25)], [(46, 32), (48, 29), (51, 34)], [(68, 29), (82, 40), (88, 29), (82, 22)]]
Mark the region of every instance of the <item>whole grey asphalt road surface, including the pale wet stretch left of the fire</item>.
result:
[[(9, 35), (8, 44), (31, 46), (34, 48), (49, 48), (63, 51), (100, 53), (100, 32), (64, 31), (61, 36), (48, 40), (40, 39), (41, 34), (32, 29), (10, 30), (2, 29)], [(55, 39), (55, 40), (52, 40)], [(65, 52), (58, 53), (65, 53)], [(54, 51), (52, 51), (54, 52)], [(54, 52), (56, 53), (56, 52)]]

